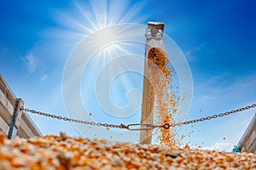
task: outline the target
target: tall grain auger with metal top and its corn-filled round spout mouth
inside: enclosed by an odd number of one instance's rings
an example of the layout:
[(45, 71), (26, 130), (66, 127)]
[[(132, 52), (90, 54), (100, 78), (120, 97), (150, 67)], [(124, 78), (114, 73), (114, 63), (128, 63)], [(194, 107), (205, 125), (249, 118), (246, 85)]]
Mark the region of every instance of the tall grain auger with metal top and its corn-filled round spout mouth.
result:
[[(154, 122), (154, 86), (152, 83), (153, 61), (157, 66), (164, 67), (166, 65), (166, 57), (163, 44), (164, 23), (148, 22), (148, 27), (145, 32), (145, 63), (144, 63), (144, 78), (143, 78), (143, 105), (142, 105), (142, 123)], [(141, 144), (151, 144), (153, 130), (142, 131), (140, 133)]]

